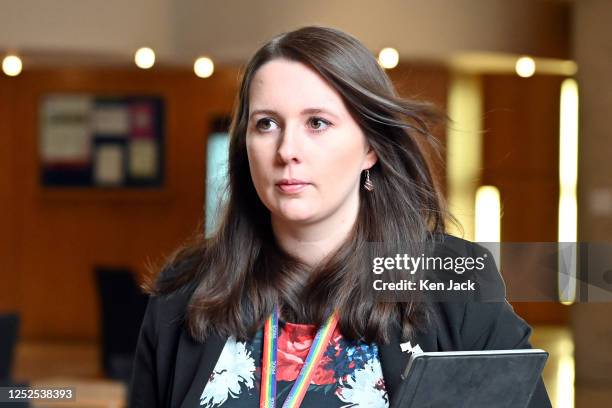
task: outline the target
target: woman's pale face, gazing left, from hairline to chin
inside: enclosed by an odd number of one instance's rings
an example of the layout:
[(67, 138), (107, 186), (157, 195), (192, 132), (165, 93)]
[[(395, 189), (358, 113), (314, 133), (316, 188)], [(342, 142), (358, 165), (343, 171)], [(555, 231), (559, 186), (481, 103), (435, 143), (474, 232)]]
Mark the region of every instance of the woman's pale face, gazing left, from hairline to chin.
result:
[(376, 162), (340, 94), (308, 66), (276, 59), (249, 89), (251, 177), (273, 221), (353, 222), (362, 170)]

